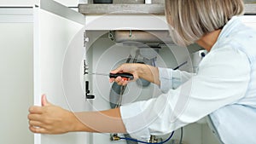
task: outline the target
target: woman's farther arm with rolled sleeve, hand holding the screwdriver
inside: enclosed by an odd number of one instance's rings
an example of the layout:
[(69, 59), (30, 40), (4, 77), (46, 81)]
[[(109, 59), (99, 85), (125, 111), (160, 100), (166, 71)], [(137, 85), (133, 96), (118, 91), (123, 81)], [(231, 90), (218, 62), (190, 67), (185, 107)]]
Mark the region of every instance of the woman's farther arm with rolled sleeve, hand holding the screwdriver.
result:
[[(151, 83), (157, 84), (163, 92), (167, 92), (169, 89), (177, 89), (181, 84), (195, 76), (195, 73), (179, 70), (174, 71), (171, 68), (160, 68), (144, 64), (123, 64), (111, 73), (119, 72), (128, 72), (133, 74), (134, 81), (137, 80), (137, 78), (143, 78)], [(110, 82), (113, 81), (119, 85), (125, 85), (128, 83), (120, 77), (115, 79), (111, 78)]]

